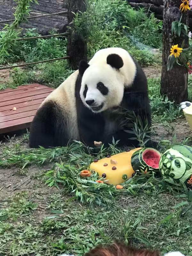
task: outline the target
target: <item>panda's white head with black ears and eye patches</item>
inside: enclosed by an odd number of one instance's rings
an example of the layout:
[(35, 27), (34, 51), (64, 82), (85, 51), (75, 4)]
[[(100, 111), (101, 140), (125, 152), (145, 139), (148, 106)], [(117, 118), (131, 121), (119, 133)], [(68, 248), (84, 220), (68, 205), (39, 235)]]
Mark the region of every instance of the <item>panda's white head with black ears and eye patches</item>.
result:
[(82, 76), (80, 97), (84, 105), (93, 112), (101, 112), (118, 106), (124, 94), (124, 78), (119, 69), (124, 65), (118, 54), (110, 54), (104, 62), (89, 65), (79, 63)]

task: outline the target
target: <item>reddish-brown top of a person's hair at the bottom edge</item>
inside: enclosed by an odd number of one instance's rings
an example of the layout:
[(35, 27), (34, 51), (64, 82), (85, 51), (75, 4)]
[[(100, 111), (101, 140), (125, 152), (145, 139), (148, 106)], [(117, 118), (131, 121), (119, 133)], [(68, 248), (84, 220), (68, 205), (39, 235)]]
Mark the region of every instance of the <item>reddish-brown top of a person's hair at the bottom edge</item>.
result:
[(85, 253), (84, 256), (160, 256), (160, 253), (158, 251), (136, 249), (121, 242), (114, 242), (107, 246), (99, 245)]

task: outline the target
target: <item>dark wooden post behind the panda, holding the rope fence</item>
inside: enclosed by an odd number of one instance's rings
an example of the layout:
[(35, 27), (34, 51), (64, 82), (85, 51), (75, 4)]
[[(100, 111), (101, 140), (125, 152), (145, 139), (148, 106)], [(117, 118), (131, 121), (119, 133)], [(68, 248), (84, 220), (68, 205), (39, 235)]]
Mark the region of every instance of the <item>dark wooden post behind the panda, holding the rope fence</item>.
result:
[(83, 0), (67, 0), (68, 5), (68, 24), (72, 29), (69, 29), (68, 36), (68, 47), (67, 55), (71, 58), (69, 59), (69, 64), (73, 70), (78, 69), (80, 60), (87, 60), (87, 42), (86, 40), (75, 31), (73, 24), (70, 24), (73, 20), (74, 13), (78, 11), (86, 11), (86, 5)]

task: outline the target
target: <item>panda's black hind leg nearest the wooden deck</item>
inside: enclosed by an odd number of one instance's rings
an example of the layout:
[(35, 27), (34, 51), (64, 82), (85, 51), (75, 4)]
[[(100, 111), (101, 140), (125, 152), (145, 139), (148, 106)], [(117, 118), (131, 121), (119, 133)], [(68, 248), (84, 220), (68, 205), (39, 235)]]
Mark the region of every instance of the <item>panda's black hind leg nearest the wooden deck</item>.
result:
[(64, 113), (53, 101), (37, 110), (30, 126), (29, 147), (44, 148), (65, 146), (68, 142)]

